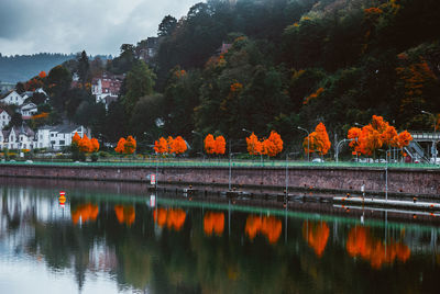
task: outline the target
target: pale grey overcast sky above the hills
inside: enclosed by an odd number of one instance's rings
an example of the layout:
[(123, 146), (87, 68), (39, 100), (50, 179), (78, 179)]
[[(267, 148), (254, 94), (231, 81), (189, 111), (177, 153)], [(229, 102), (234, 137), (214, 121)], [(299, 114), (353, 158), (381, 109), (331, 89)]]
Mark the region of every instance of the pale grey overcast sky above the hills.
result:
[(2, 55), (77, 53), (119, 55), (121, 44), (157, 34), (201, 0), (0, 0)]

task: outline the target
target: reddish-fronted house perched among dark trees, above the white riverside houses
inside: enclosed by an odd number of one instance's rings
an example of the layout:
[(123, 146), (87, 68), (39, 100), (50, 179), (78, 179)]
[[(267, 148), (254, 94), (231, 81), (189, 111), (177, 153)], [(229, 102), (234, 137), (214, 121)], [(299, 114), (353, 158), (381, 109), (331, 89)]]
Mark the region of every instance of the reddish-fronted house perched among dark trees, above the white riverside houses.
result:
[(113, 76), (108, 72), (103, 72), (100, 77), (94, 78), (91, 81), (91, 93), (95, 95), (96, 102), (105, 103), (106, 109), (108, 109), (109, 104), (107, 101), (112, 102), (118, 100), (123, 79), (124, 76)]

